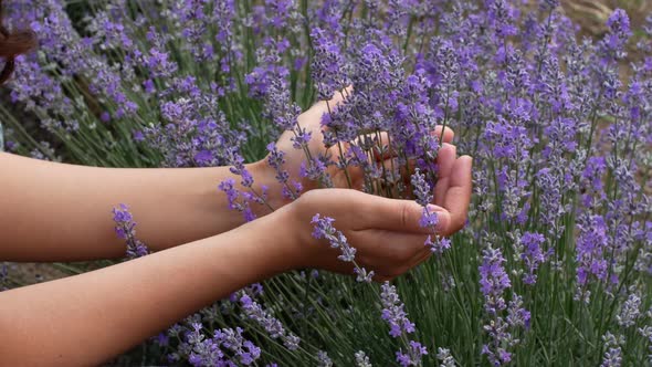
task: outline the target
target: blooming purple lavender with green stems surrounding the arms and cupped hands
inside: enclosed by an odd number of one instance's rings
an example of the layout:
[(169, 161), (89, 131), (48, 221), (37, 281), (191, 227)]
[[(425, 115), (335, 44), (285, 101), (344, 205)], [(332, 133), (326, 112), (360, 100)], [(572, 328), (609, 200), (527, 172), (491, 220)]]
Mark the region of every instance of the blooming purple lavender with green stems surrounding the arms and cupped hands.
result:
[[(75, 20), (55, 0), (6, 2), (9, 23), (40, 39), (0, 103), (10, 151), (229, 165), (234, 178), (220, 189), (246, 220), (269, 202), (244, 164), (265, 156), (286, 200), (347, 187), (423, 207), (433, 259), (406, 279), (378, 292), (328, 274), (281, 276), (273, 292), (244, 290), (158, 338), (172, 363), (652, 360), (652, 18), (633, 32), (616, 10), (591, 40), (556, 0), (112, 0)], [(298, 124), (334, 95), (344, 102), (327, 105), (320, 132)], [(42, 132), (25, 130), (17, 108)], [(437, 125), (474, 157), (467, 226), (452, 239), (434, 233), (429, 206)], [(273, 144), (282, 132), (293, 151)], [(285, 166), (295, 150), (298, 177)], [(114, 216), (132, 255), (145, 254), (126, 208)], [(313, 224), (355, 264), (332, 218)], [(371, 280), (372, 269), (355, 268)], [(378, 304), (380, 322), (365, 312)]]

